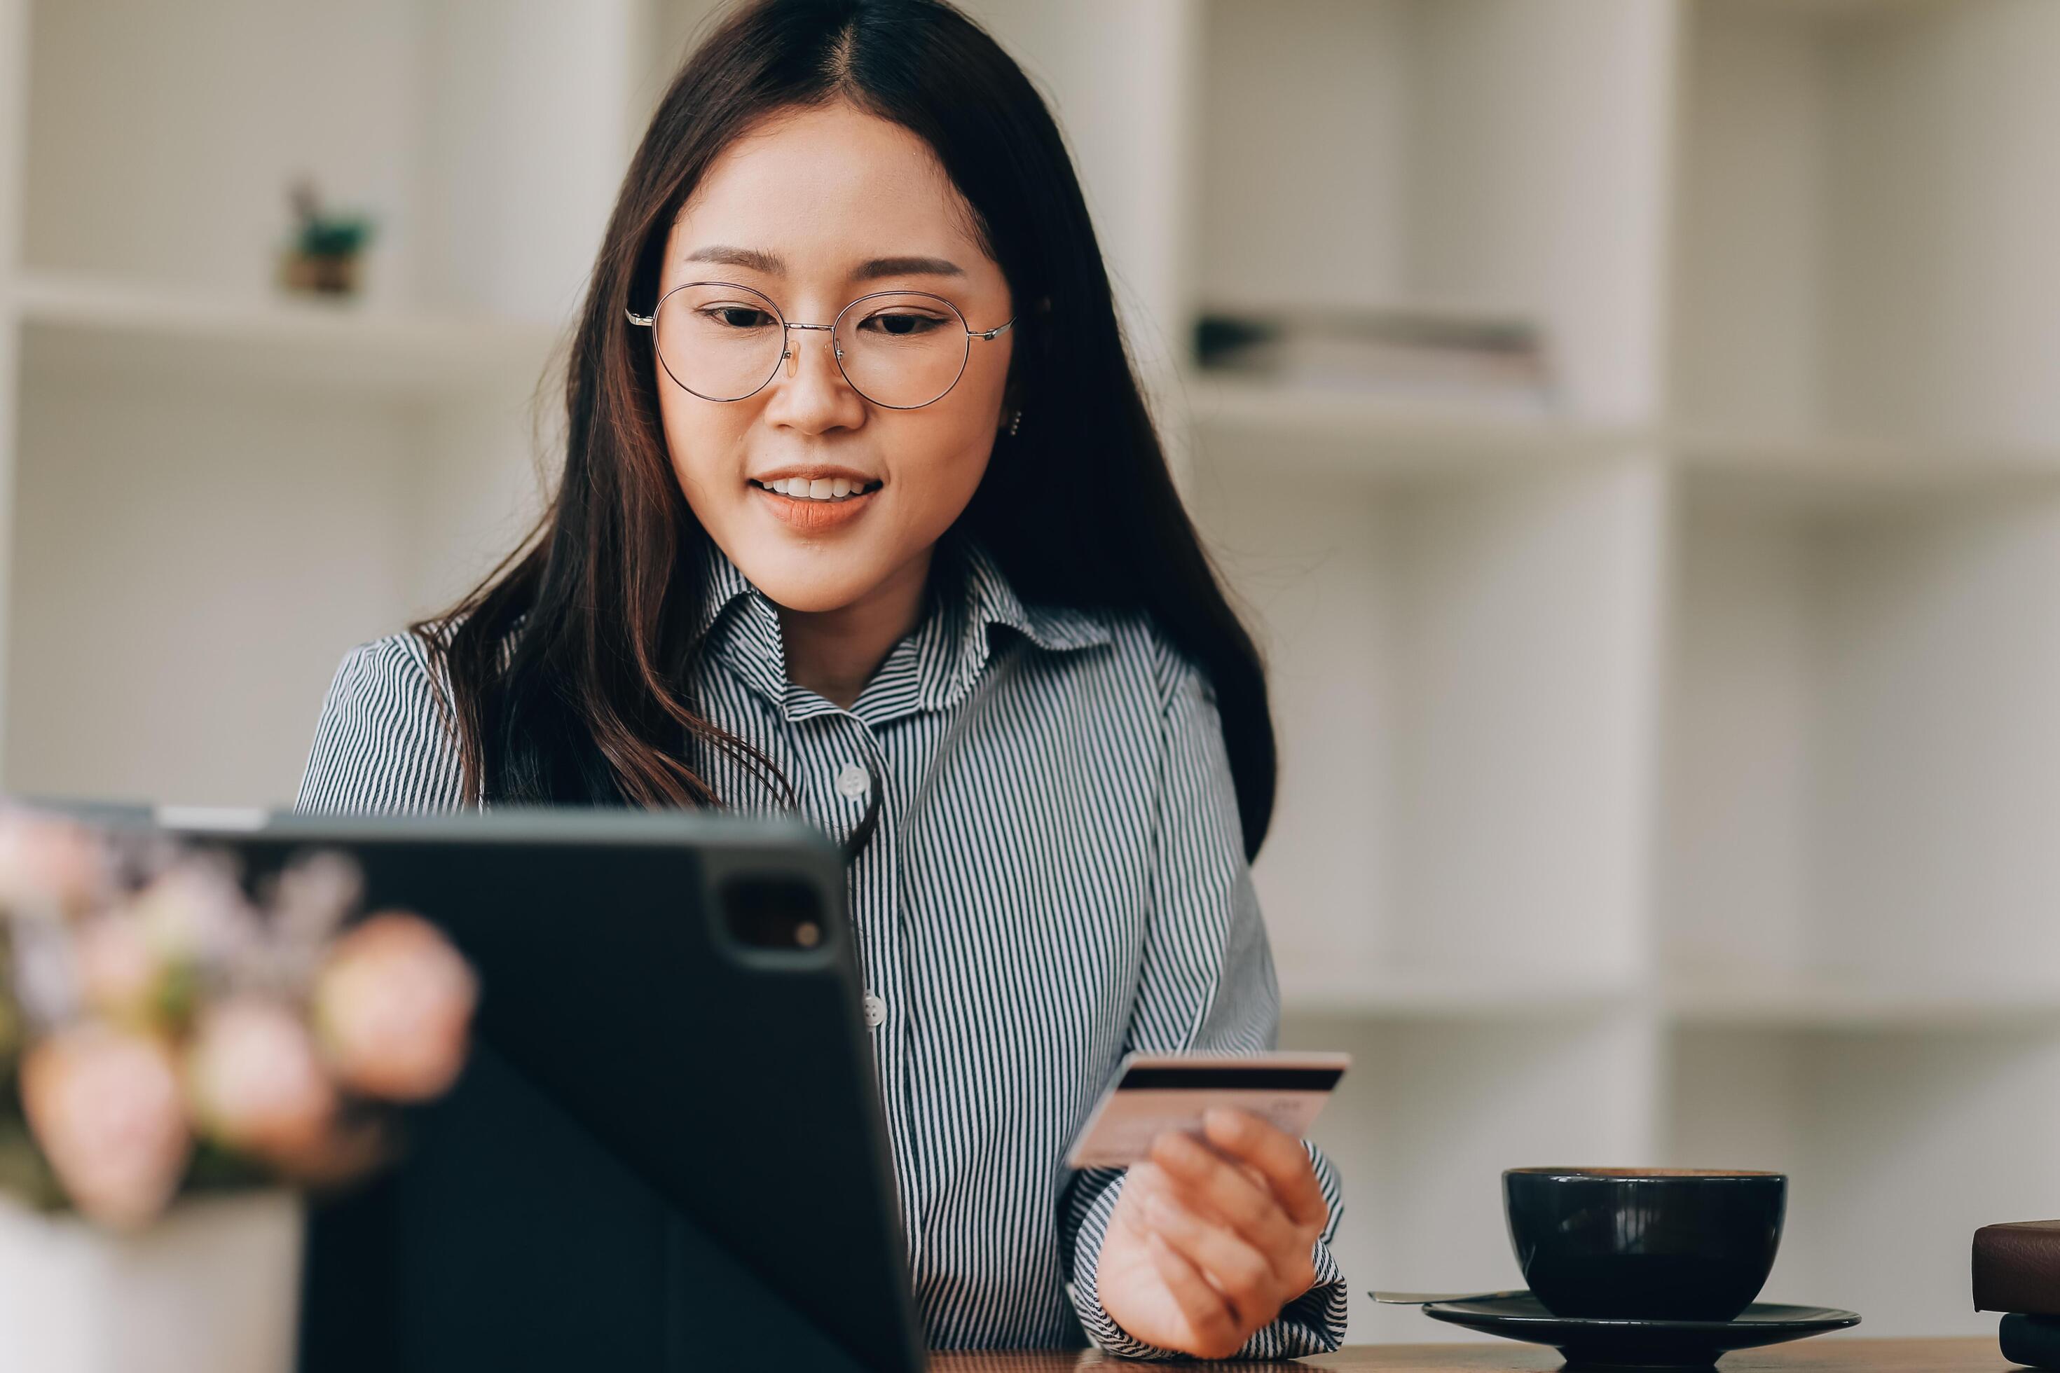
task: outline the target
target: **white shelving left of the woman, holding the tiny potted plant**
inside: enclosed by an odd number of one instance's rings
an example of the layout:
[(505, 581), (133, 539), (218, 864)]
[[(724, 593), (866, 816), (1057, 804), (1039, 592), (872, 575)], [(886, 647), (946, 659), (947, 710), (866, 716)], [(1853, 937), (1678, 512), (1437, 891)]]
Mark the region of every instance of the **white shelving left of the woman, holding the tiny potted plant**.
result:
[[(288, 799), (342, 648), (445, 603), (536, 506), (529, 401), (647, 14), (0, 12), (6, 784)], [(303, 173), (377, 216), (358, 301), (270, 284)]]

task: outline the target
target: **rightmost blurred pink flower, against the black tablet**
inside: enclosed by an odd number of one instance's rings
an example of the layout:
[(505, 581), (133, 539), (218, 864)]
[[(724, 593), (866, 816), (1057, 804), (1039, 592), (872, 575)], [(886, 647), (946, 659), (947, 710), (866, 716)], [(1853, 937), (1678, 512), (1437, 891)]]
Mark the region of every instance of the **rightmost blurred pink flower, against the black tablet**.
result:
[(315, 976), (315, 1033), (346, 1087), (422, 1101), (457, 1079), (476, 1000), (437, 926), (385, 910), (344, 932)]

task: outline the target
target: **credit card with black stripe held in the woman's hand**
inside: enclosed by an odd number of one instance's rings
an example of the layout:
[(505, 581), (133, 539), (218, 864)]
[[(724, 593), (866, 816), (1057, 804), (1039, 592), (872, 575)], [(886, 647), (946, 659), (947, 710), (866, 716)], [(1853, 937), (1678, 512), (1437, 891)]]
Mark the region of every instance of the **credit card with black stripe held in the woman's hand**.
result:
[(1129, 1054), (1065, 1153), (1067, 1167), (1125, 1167), (1162, 1130), (1201, 1134), (1209, 1107), (1232, 1105), (1288, 1134), (1308, 1134), (1351, 1054)]

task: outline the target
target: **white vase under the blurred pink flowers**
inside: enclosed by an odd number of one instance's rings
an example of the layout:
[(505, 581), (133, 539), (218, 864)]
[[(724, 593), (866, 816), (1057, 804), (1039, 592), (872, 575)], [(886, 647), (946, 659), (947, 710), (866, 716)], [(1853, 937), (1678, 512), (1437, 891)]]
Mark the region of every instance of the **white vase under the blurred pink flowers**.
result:
[(190, 1196), (138, 1231), (0, 1198), (0, 1369), (288, 1373), (303, 1231), (284, 1188)]

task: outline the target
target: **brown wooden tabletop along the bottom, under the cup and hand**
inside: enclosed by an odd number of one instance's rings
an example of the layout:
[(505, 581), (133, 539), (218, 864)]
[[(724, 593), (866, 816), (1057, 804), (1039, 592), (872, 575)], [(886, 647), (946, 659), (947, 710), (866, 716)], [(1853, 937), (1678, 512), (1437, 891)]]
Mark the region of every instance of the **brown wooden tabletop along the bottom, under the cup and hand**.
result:
[[(1061, 1373), (1063, 1369), (1337, 1369), (1343, 1373), (1444, 1373), (1473, 1369), (1475, 1373), (1545, 1373), (1564, 1367), (1559, 1352), (1543, 1344), (1351, 1344), (1335, 1354), (1312, 1354), (1292, 1363), (1137, 1363), (1110, 1359), (1100, 1350), (1005, 1350), (1005, 1352), (937, 1352), (931, 1373)], [(1724, 1354), (1718, 1373), (2008, 1373), (2017, 1369), (1996, 1352), (1992, 1336), (1965, 1340), (1796, 1340), (1772, 1348), (1743, 1348)]]

